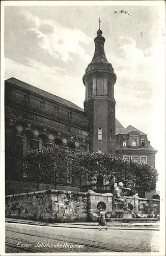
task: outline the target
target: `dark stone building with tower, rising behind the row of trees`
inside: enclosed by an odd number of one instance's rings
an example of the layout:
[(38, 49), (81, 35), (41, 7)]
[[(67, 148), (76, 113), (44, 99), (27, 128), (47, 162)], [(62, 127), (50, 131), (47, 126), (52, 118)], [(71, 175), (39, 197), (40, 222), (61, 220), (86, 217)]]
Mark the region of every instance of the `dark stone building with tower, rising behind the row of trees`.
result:
[[(21, 171), (19, 156), (51, 144), (81, 152), (109, 152), (155, 166), (157, 151), (147, 135), (131, 125), (125, 129), (116, 119), (116, 74), (106, 59), (101, 30), (94, 42), (95, 53), (83, 76), (84, 110), (16, 78), (5, 81), (6, 179), (13, 189), (15, 181), (31, 183)], [(57, 184), (57, 189), (78, 190), (70, 177), (60, 175)], [(44, 185), (42, 188), (47, 189)], [(26, 191), (32, 190), (27, 186)]]

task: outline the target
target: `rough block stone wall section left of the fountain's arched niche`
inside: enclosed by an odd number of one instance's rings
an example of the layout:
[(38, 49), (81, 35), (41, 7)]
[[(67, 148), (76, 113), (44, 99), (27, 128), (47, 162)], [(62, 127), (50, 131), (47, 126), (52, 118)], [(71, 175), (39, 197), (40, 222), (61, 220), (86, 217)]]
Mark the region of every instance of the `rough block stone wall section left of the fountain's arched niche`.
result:
[(87, 193), (44, 190), (6, 196), (6, 217), (49, 222), (86, 221)]

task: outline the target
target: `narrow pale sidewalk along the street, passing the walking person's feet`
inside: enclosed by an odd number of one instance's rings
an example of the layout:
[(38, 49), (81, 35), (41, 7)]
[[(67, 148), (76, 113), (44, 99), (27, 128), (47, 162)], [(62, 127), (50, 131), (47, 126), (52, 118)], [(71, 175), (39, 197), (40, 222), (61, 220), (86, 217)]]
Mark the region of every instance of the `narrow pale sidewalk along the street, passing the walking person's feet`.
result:
[[(66, 228), (85, 228), (98, 229), (99, 225), (96, 222), (74, 222), (74, 223), (49, 223), (41, 221), (21, 220), (6, 218), (8, 223), (20, 223), (27, 225), (50, 226), (50, 227), (66, 227)], [(107, 223), (108, 229), (131, 229), (131, 230), (159, 230), (159, 222), (151, 223)]]

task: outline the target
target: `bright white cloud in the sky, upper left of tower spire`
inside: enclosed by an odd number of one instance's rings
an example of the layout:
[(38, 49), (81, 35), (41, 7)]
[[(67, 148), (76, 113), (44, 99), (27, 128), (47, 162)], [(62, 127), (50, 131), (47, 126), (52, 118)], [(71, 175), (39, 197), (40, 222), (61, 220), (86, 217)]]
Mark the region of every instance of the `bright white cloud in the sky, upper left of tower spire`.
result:
[[(25, 16), (25, 22), (29, 24), (31, 34), (38, 39), (38, 45), (47, 50), (55, 58), (61, 58), (63, 61), (72, 61), (70, 53), (78, 55), (82, 60), (90, 60), (82, 44), (88, 45), (91, 41), (87, 35), (78, 29), (62, 27), (59, 23), (52, 20), (40, 20), (30, 12), (22, 12)], [(31, 27), (32, 26), (32, 27)], [(81, 45), (80, 45), (81, 44)]]

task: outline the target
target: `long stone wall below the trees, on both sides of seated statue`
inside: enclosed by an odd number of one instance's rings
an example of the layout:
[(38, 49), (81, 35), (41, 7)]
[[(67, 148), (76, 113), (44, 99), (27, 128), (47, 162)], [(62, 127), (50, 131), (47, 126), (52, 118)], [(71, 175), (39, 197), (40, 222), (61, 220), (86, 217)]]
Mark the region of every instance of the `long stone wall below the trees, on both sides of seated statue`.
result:
[[(159, 200), (125, 197), (132, 212), (142, 217), (159, 215)], [(102, 205), (111, 217), (113, 194), (97, 194), (64, 190), (43, 190), (6, 196), (6, 217), (49, 222), (97, 221), (94, 214)], [(88, 217), (88, 219), (87, 219)], [(135, 218), (135, 217), (134, 217)]]

